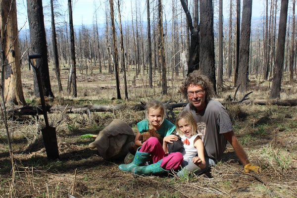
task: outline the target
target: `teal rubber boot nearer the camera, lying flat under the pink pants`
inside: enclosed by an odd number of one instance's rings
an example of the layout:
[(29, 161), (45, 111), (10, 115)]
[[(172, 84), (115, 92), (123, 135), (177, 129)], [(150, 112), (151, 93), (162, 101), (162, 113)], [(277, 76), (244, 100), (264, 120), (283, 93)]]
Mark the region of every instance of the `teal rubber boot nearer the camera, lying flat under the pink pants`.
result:
[(169, 172), (169, 170), (165, 170), (160, 167), (161, 162), (162, 162), (162, 159), (154, 164), (150, 164), (147, 166), (136, 166), (132, 168), (131, 172), (136, 175), (150, 175), (150, 174), (160, 174), (160, 173)]

